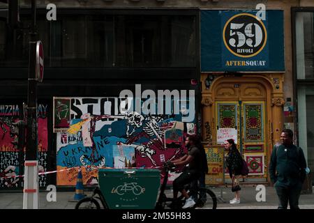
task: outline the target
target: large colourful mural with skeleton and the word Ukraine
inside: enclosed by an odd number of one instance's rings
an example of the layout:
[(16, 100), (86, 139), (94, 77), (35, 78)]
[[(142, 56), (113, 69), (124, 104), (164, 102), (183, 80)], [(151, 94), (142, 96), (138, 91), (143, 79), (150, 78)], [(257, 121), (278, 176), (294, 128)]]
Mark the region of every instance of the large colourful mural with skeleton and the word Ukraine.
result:
[[(54, 98), (54, 113), (59, 112), (58, 102), (68, 105), (69, 115), (64, 116), (63, 122), (69, 123), (69, 128), (54, 129), (57, 185), (75, 185), (79, 167), (85, 185), (95, 182), (102, 167), (160, 167), (186, 153), (186, 132), (196, 132), (196, 125), (185, 123), (181, 113), (126, 111), (133, 103), (130, 98)], [(75, 168), (60, 171), (71, 167)], [(176, 173), (171, 174), (170, 180), (174, 176)]]

